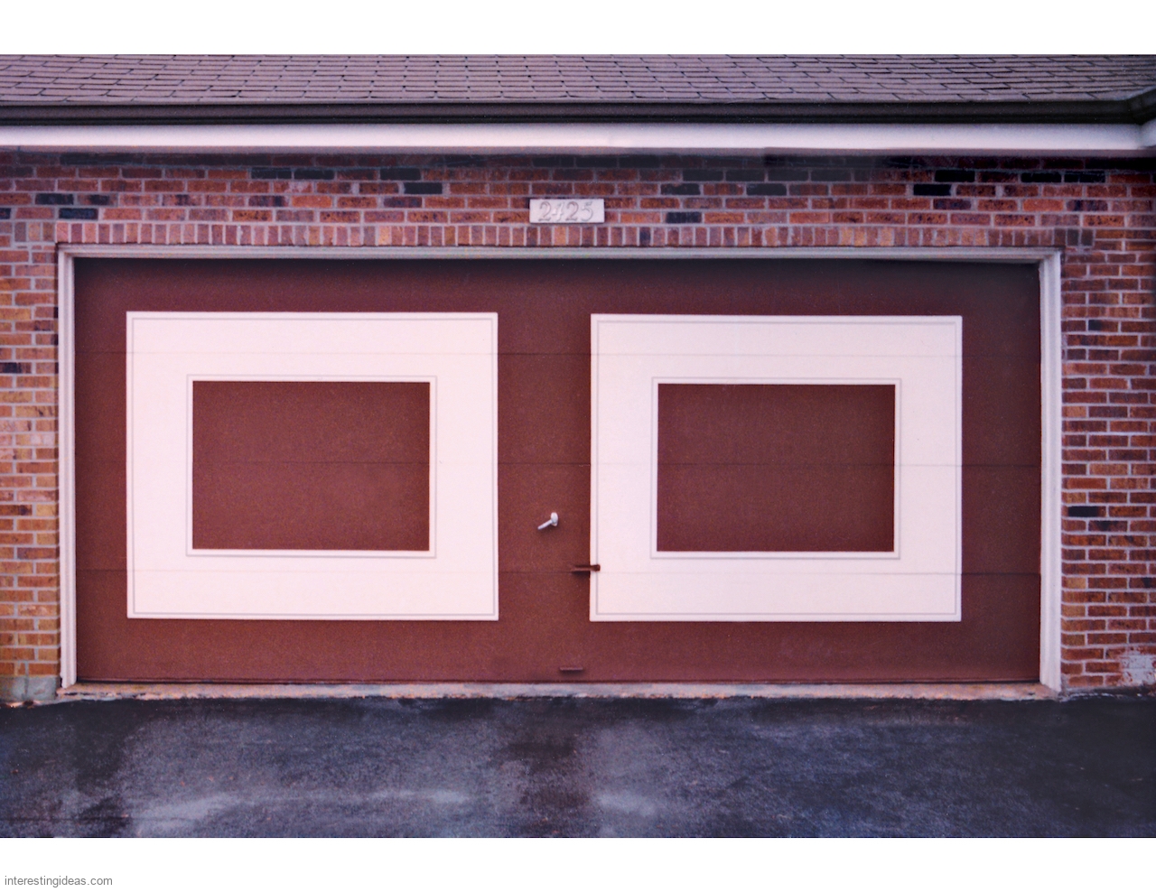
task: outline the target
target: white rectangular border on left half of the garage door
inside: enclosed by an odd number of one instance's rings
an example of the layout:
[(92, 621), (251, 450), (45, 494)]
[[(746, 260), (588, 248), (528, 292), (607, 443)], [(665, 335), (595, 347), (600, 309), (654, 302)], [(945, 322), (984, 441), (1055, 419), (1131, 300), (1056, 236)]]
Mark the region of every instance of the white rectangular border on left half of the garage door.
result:
[[(497, 619), (496, 314), (131, 312), (127, 322), (129, 617)], [(195, 548), (198, 381), (425, 382), (429, 547)]]

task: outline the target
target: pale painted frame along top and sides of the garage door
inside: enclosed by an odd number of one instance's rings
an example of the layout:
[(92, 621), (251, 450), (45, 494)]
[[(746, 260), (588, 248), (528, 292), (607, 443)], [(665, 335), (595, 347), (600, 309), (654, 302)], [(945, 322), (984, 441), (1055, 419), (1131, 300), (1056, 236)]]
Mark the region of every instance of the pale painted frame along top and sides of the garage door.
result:
[(1040, 305), (1040, 647), (1039, 681), (1060, 690), (1060, 602), (1062, 511), (1060, 261), (1058, 248), (475, 248), (475, 247), (250, 247), (210, 245), (60, 245), (57, 253), (59, 307), (60, 447), (60, 675), (76, 682), (76, 498), (75, 498), (75, 292), (76, 258), (150, 260), (911, 260), (1035, 263)]

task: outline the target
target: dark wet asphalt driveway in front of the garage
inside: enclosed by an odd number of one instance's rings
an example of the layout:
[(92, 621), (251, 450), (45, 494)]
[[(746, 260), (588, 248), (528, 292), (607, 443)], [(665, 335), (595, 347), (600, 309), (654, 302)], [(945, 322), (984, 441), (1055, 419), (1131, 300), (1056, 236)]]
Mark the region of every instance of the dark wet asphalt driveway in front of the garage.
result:
[(1156, 835), (1156, 699), (0, 709), (8, 837)]

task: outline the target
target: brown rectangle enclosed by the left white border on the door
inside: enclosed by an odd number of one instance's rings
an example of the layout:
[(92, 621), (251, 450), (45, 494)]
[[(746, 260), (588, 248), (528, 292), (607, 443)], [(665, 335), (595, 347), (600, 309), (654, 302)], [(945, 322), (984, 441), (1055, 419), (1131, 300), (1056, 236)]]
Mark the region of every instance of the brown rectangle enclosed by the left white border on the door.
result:
[(429, 549), (425, 381), (193, 381), (193, 548)]

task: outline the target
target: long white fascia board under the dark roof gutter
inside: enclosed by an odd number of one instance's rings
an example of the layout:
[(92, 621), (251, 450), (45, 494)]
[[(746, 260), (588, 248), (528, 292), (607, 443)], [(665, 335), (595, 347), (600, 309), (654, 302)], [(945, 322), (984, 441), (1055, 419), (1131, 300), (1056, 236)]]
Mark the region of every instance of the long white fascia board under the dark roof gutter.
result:
[(1154, 155), (1135, 124), (275, 124), (0, 127), (23, 151)]

